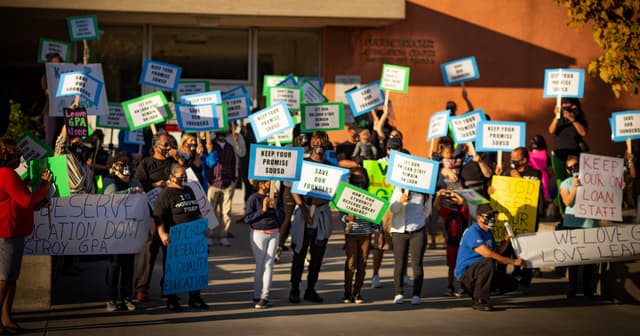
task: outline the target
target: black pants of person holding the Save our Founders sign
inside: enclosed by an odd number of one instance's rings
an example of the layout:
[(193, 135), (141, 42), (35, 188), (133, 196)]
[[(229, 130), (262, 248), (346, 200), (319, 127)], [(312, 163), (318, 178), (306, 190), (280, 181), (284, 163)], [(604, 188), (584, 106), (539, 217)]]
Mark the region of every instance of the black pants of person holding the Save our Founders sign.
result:
[(322, 266), (322, 258), (327, 249), (328, 239), (316, 240), (316, 230), (306, 230), (302, 241), (300, 253), (293, 252), (293, 262), (291, 263), (291, 290), (300, 290), (300, 281), (302, 280), (302, 272), (304, 271), (304, 259), (307, 250), (311, 254), (309, 261), (309, 274), (307, 274), (307, 290), (315, 288)]

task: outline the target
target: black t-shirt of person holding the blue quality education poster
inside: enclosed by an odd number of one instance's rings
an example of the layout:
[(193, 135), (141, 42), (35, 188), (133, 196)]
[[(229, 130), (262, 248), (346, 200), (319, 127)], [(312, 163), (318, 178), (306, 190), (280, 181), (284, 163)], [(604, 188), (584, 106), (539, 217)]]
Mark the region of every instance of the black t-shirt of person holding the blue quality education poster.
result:
[(165, 231), (169, 232), (169, 229), (176, 224), (200, 218), (200, 206), (191, 188), (167, 187), (158, 195), (153, 215), (158, 224), (164, 225)]

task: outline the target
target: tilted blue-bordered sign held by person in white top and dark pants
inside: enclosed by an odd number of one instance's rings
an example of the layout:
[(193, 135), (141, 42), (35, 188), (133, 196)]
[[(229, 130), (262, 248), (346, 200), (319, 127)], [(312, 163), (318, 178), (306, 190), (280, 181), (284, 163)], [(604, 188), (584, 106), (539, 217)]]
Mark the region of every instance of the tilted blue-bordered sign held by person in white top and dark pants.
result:
[(387, 182), (399, 188), (433, 194), (438, 181), (438, 167), (437, 161), (392, 150)]

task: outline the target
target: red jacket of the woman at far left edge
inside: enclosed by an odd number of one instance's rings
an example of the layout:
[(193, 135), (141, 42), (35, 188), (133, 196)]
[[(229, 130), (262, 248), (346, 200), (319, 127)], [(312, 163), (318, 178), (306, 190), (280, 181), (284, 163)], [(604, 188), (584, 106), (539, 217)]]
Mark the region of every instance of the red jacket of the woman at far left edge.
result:
[(41, 186), (31, 193), (11, 168), (0, 168), (0, 238), (26, 237), (33, 231), (33, 207), (47, 196)]

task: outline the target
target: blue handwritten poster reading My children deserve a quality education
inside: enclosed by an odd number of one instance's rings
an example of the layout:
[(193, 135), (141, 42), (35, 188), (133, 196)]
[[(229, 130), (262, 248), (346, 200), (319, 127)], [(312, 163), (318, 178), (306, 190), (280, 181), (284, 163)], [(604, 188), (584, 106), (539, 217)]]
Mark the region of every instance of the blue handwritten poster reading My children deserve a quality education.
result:
[(162, 294), (186, 293), (209, 286), (205, 219), (177, 224), (169, 230)]

